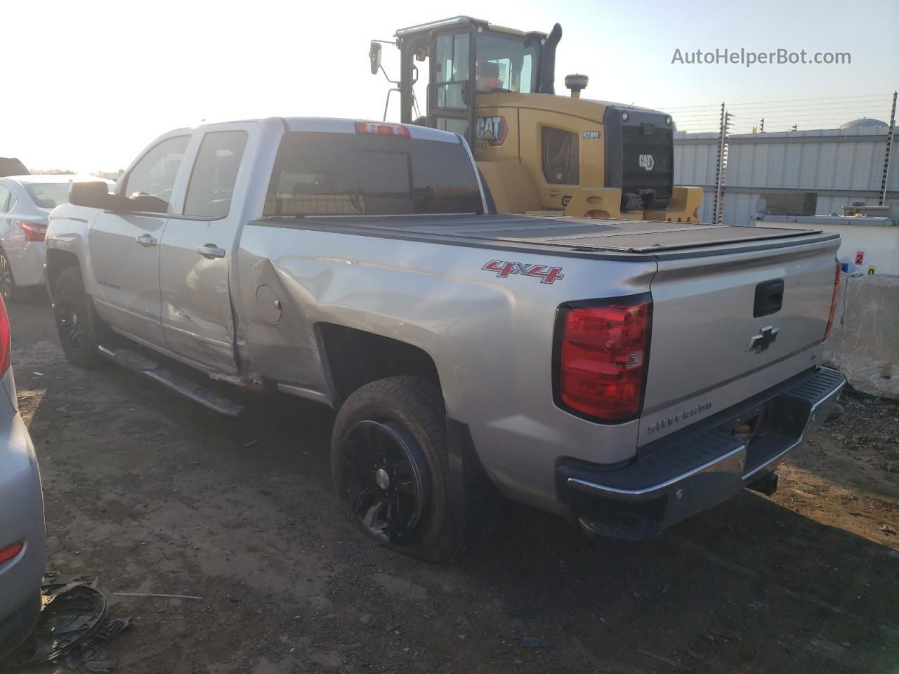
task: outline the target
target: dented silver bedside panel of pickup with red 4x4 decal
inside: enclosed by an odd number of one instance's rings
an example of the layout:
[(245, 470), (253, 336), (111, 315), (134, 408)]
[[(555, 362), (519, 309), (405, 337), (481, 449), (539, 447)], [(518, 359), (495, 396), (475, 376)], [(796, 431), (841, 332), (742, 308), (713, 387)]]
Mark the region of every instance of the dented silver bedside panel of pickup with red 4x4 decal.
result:
[[(564, 278), (500, 279), (482, 269), (491, 260), (562, 267)], [(467, 423), (487, 472), (518, 501), (556, 510), (557, 457), (612, 463), (634, 455), (636, 421), (601, 426), (553, 403), (553, 330), (566, 301), (645, 292), (654, 262), (250, 225), (238, 266), (254, 373), (325, 394), (319, 323), (412, 344), (436, 364), (449, 416)], [(280, 297), (277, 324), (256, 305), (263, 284)]]

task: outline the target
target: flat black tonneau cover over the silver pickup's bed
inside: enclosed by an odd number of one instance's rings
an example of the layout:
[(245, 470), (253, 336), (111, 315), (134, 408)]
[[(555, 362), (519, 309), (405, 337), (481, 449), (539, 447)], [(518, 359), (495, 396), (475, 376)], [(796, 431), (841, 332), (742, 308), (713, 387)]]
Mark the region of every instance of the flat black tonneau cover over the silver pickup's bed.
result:
[(834, 239), (815, 229), (700, 225), (646, 220), (449, 214), (430, 216), (266, 217), (277, 226), (435, 244), (627, 259), (681, 257), (779, 248)]

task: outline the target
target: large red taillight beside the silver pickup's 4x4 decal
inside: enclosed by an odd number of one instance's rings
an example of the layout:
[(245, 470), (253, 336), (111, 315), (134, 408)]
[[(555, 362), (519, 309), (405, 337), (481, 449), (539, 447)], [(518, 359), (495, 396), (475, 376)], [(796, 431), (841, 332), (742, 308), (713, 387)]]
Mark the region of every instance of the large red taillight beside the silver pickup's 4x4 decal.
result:
[(652, 303), (646, 296), (560, 311), (557, 390), (563, 407), (627, 421), (643, 407)]

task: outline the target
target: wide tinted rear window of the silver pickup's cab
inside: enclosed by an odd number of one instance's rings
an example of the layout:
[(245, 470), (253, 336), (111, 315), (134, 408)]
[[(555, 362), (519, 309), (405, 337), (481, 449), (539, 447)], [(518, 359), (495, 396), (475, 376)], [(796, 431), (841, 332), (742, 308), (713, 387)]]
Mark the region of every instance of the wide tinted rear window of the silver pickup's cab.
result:
[(265, 216), (483, 213), (461, 143), (375, 133), (289, 131)]

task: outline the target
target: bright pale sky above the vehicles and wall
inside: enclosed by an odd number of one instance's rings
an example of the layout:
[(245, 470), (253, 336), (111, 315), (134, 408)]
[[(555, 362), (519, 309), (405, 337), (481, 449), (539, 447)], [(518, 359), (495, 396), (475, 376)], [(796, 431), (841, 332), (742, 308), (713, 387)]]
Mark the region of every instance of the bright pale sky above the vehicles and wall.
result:
[[(369, 40), (459, 13), (523, 30), (549, 31), (560, 22), (557, 92), (565, 93), (565, 74), (585, 73), (585, 96), (673, 111), (681, 129), (691, 120), (705, 123), (716, 111), (678, 108), (722, 101), (884, 94), (774, 108), (800, 116), (805, 128), (830, 121), (828, 114), (842, 120), (844, 111), (845, 120), (887, 119), (888, 94), (899, 86), (895, 0), (870, 0), (858, 9), (845, 0), (6, 0), (0, 13), (6, 66), (0, 155), (18, 156), (31, 168), (115, 170), (157, 135), (204, 119), (380, 119), (388, 87), (382, 76), (369, 74)], [(849, 51), (852, 63), (672, 65), (674, 49), (725, 47)], [(398, 51), (386, 46), (384, 54), (387, 71), (397, 75)], [(747, 113), (747, 124), (772, 114), (761, 104), (734, 110)], [(792, 119), (775, 112), (768, 124)]]

